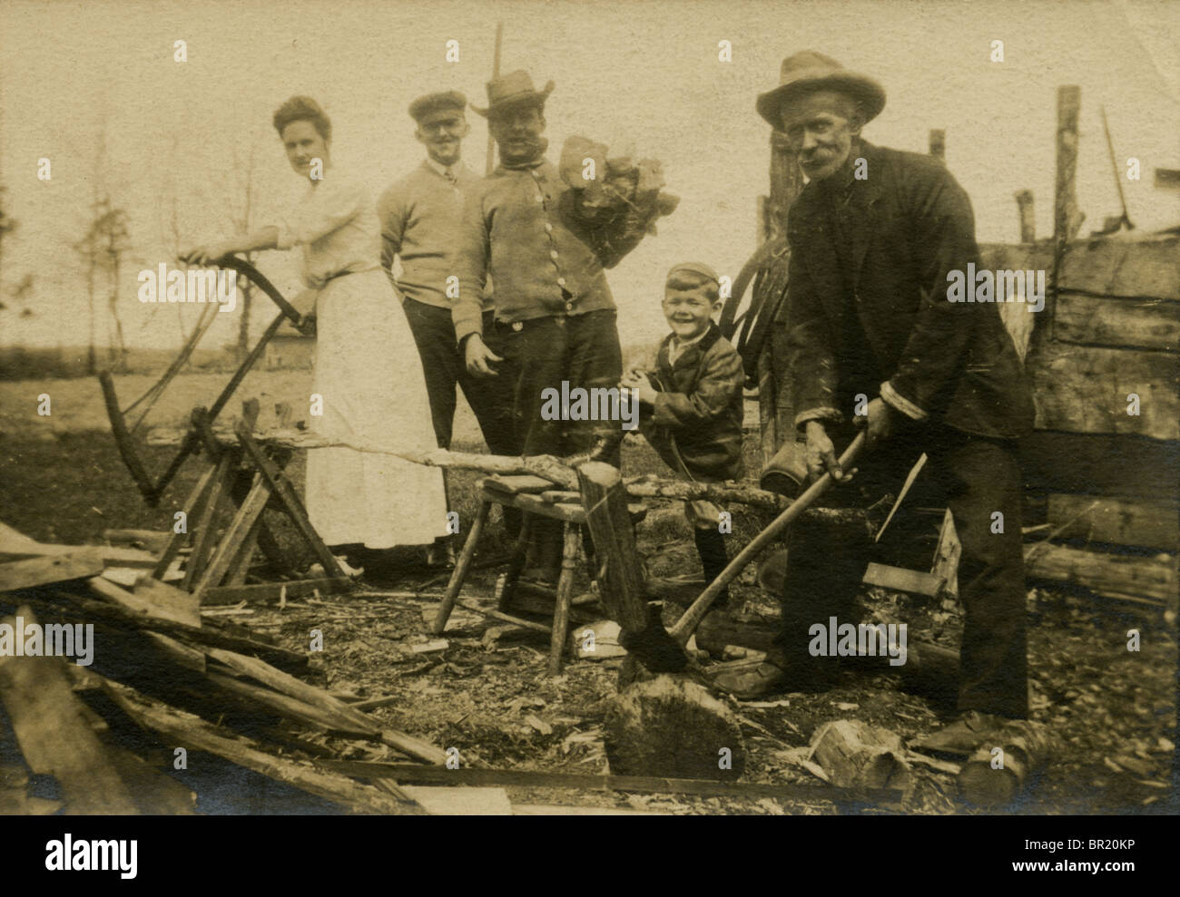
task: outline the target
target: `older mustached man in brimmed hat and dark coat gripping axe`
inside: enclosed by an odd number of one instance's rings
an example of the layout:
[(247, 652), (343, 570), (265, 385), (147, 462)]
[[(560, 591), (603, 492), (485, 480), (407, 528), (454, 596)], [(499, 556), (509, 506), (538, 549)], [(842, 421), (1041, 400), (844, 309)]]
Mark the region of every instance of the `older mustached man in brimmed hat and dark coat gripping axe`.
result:
[[(758, 100), (809, 182), (787, 225), (789, 390), (812, 477), (848, 479), (837, 451), (854, 426), (867, 429), (861, 486), (896, 492), (929, 457), (963, 546), (965, 621), (962, 715), (925, 746), (968, 752), (1028, 711), (1014, 441), (1031, 430), (1032, 402), (996, 306), (948, 298), (949, 275), (979, 263), (966, 193), (937, 159), (860, 137), (884, 105), (876, 80), (813, 52), (786, 59), (780, 86)], [(755, 695), (827, 679), (837, 661), (817, 657), (813, 627), (852, 621), (867, 548), (799, 527), (775, 649), (717, 685)]]

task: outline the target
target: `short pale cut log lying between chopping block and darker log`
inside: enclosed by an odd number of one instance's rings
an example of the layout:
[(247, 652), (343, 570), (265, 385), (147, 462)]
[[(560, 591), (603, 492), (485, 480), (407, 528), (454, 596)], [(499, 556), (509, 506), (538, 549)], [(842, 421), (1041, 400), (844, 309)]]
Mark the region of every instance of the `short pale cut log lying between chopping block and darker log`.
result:
[(854, 719), (825, 723), (812, 737), (811, 757), (840, 787), (905, 789), (911, 781), (902, 738)]

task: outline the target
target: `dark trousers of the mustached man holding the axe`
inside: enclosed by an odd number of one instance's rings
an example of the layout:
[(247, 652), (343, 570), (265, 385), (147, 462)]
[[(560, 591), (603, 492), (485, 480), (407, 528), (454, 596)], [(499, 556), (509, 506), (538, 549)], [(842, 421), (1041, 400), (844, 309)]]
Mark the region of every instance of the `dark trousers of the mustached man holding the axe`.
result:
[[(853, 431), (830, 427), (828, 434), (839, 454)], [(861, 455), (851, 483), (833, 486), (821, 503), (858, 503), (886, 490), (896, 494), (923, 451), (929, 460), (919, 481), (926, 481), (926, 495), (950, 508), (963, 546), (958, 583), (965, 619), (958, 707), (1023, 718), (1028, 714), (1028, 658), (1022, 486), (1015, 443), (903, 423), (879, 448)], [(912, 501), (913, 493), (905, 503)], [(1003, 514), (1002, 533), (992, 532), (996, 512)], [(775, 660), (788, 668), (834, 662), (808, 654), (808, 629), (817, 622), (827, 626), (830, 616), (857, 622), (853, 601), (871, 547), (867, 534), (850, 541), (846, 529), (812, 521), (792, 527)]]

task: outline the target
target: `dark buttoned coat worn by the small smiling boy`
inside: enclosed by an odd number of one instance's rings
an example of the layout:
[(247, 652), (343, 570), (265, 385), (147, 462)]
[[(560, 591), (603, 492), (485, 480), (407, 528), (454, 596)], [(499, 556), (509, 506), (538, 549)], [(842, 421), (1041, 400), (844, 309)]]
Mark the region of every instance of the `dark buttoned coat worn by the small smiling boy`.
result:
[(702, 482), (736, 480), (742, 473), (746, 382), (741, 356), (710, 323), (700, 342), (687, 347), (670, 364), (671, 338), (670, 334), (664, 337), (656, 369), (649, 371), (660, 395), (653, 410), (641, 418), (642, 433), (678, 476)]

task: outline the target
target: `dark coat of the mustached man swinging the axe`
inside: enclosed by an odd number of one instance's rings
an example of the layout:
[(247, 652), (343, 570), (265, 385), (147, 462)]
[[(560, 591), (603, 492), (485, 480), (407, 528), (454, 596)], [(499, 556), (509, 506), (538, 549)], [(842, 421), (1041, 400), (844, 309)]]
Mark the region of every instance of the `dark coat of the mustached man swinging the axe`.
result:
[[(795, 424), (843, 421), (837, 347), (844, 314), (831, 215), (850, 246), (848, 283), (885, 381), (885, 401), (916, 420), (1015, 438), (1032, 428), (1032, 397), (994, 303), (950, 302), (948, 271), (979, 266), (971, 200), (940, 161), (859, 141), (867, 179), (830, 212), (808, 184), (791, 206), (788, 357)], [(839, 177), (839, 176), (837, 176)]]

